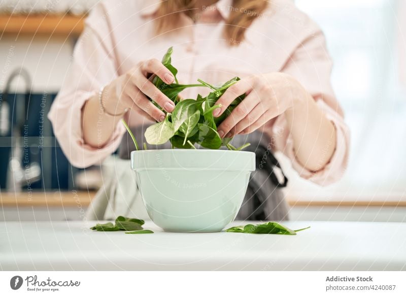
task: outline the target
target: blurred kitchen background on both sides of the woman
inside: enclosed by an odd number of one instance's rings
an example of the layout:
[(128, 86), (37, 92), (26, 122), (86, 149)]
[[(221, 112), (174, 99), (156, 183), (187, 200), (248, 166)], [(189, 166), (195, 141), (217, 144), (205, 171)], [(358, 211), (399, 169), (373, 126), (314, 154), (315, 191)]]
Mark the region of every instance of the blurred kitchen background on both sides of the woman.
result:
[[(84, 219), (114, 163), (72, 167), (47, 119), (97, 2), (0, 0), (0, 220)], [(328, 187), (300, 180), (278, 155), (290, 218), (406, 221), (406, 1), (295, 3), (326, 35), (351, 153), (344, 178)]]

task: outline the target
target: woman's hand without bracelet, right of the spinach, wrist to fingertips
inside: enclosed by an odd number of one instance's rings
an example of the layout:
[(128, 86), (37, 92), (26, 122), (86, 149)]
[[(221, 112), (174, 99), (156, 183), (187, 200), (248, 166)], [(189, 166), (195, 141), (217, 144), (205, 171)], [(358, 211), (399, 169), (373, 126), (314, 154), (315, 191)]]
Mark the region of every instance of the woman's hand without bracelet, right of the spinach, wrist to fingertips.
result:
[(217, 128), (221, 138), (230, 138), (238, 134), (249, 134), (276, 118), (303, 97), (300, 84), (290, 75), (270, 73), (250, 76), (230, 86), (219, 98), (213, 115), (220, 116), (231, 102), (242, 94), (244, 100), (231, 112)]

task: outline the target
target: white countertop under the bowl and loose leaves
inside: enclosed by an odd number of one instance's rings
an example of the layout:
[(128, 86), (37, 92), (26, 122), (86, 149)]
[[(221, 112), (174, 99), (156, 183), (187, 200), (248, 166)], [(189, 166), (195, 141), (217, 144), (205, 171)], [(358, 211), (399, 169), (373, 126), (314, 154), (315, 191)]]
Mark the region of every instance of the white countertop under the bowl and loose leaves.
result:
[[(95, 222), (0, 222), (0, 270), (406, 270), (406, 223), (285, 222), (296, 236), (93, 232)], [(233, 224), (247, 224), (234, 222)]]

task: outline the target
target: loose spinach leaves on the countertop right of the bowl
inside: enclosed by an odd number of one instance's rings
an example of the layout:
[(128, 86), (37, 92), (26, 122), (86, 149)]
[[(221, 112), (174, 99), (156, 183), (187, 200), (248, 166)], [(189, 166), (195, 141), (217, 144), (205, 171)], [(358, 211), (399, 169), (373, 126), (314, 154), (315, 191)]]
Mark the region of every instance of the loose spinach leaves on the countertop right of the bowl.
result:
[(278, 222), (266, 222), (263, 224), (247, 224), (245, 226), (234, 226), (226, 229), (226, 232), (235, 232), (235, 233), (245, 233), (245, 234), (276, 234), (276, 235), (290, 235), (294, 236), (297, 232), (304, 229), (309, 229), (309, 227), (301, 228), (297, 230), (292, 230)]

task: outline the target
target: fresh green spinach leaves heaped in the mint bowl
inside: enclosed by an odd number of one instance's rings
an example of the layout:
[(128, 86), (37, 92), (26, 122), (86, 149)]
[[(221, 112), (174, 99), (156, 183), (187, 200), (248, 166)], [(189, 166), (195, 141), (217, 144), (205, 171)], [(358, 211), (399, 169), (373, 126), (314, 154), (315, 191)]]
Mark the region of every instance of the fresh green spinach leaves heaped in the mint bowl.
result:
[[(221, 105), (215, 105), (217, 100), (224, 92), (239, 81), (239, 77), (234, 77), (223, 85), (216, 87), (205, 81), (198, 79), (200, 84), (179, 84), (176, 75), (178, 70), (172, 65), (171, 55), (173, 48), (169, 48), (162, 58), (162, 64), (171, 71), (175, 77), (175, 82), (166, 84), (158, 76), (152, 77), (152, 83), (162, 91), (168, 98), (175, 103), (175, 109), (172, 113), (166, 113), (165, 119), (161, 122), (149, 126), (145, 131), (145, 138), (148, 144), (160, 145), (170, 141), (172, 148), (196, 149), (194, 144), (209, 149), (219, 149), (221, 146), (226, 146), (230, 150), (242, 150), (250, 144), (245, 144), (235, 148), (230, 144), (232, 138), (222, 139), (217, 133), (217, 127), (220, 123), (231, 114), (232, 110), (244, 100), (245, 94), (237, 97), (219, 117), (213, 116), (213, 111), (221, 108)], [(186, 99), (179, 100), (178, 94), (188, 88), (196, 86), (205, 86), (212, 91), (203, 97), (200, 94), (196, 100)], [(155, 104), (155, 103), (154, 103)], [(155, 104), (155, 106), (157, 106)], [(159, 106), (157, 106), (159, 107)], [(123, 120), (124, 126), (127, 128), (136, 149), (139, 150), (138, 143), (132, 135), (128, 125)], [(144, 144), (144, 148), (146, 145)]]

